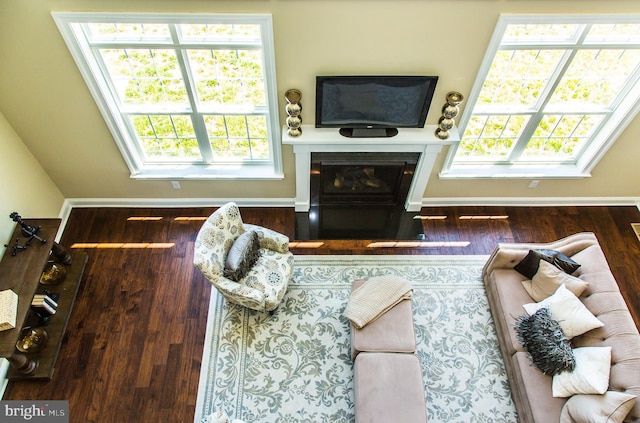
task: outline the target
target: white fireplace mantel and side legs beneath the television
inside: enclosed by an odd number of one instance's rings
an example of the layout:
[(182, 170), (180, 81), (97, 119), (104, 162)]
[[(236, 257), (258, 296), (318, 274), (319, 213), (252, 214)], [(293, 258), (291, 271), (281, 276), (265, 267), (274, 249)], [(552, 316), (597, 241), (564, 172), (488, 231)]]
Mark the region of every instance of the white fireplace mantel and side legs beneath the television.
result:
[(311, 153), (317, 152), (420, 153), (404, 206), (409, 212), (420, 211), (422, 195), (442, 146), (460, 141), (457, 128), (449, 131), (451, 135), (446, 140), (435, 136), (436, 128), (435, 125), (398, 128), (398, 135), (391, 138), (347, 138), (338, 133), (338, 128), (316, 128), (313, 125), (302, 125), (302, 135), (291, 137), (287, 134), (287, 127), (283, 127), (282, 143), (293, 146), (296, 160), (296, 211), (309, 211)]

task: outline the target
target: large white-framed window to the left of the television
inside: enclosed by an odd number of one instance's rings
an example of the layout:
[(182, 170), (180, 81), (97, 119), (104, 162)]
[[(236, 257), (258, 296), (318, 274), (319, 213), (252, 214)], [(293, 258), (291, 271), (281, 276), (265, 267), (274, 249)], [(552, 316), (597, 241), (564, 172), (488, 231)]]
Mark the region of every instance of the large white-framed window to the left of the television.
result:
[(133, 177), (282, 177), (270, 16), (53, 17)]

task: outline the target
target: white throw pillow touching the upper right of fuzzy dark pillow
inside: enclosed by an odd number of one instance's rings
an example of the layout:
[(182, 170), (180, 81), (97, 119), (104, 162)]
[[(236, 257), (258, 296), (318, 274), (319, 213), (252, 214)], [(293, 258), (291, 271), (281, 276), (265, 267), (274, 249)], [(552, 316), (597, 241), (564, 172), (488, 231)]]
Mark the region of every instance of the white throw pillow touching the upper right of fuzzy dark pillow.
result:
[(555, 294), (539, 303), (529, 303), (523, 307), (530, 316), (542, 307), (549, 307), (568, 339), (604, 326), (564, 285), (560, 285)]

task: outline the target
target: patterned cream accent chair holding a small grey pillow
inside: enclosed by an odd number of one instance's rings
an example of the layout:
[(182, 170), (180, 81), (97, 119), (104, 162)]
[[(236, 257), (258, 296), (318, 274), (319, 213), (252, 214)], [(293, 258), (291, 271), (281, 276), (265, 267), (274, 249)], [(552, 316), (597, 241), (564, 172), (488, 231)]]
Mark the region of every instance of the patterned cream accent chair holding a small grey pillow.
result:
[[(247, 231), (260, 241), (260, 257), (238, 282), (224, 277), (225, 260), (233, 242)], [(278, 307), (293, 274), (289, 238), (276, 231), (242, 222), (235, 203), (227, 203), (204, 222), (198, 232), (194, 264), (230, 303), (253, 310)]]

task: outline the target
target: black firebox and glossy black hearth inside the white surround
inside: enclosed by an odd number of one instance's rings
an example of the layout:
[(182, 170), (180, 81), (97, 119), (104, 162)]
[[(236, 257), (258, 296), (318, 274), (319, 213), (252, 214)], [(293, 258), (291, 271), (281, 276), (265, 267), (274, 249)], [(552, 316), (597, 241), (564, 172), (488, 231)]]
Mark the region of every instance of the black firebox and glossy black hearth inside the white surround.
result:
[(296, 237), (416, 238), (420, 222), (404, 204), (419, 160), (416, 152), (312, 153), (310, 210), (299, 214)]

